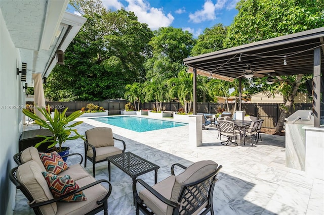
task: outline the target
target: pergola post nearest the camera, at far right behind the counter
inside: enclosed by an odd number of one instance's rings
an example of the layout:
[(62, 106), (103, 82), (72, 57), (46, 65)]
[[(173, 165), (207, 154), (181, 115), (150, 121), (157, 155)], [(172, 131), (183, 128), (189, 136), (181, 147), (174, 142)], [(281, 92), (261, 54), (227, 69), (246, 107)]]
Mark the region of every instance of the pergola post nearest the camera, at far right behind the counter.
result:
[(313, 110), (314, 110), (314, 127), (320, 127), (320, 88), (321, 88), (321, 72), (320, 72), (320, 47), (314, 49), (314, 75), (313, 75)]

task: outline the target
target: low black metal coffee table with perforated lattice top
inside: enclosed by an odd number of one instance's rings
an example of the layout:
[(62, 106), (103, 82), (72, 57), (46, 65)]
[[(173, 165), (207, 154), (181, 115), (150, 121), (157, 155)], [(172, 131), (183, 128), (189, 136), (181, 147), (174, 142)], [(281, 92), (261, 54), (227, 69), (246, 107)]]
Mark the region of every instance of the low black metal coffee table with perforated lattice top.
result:
[(148, 160), (133, 154), (132, 152), (125, 152), (121, 154), (106, 157), (108, 160), (108, 176), (110, 181), (110, 163), (114, 164), (120, 170), (129, 175), (133, 181), (136, 177), (154, 170), (154, 183), (157, 183), (157, 170), (159, 166), (149, 162)]

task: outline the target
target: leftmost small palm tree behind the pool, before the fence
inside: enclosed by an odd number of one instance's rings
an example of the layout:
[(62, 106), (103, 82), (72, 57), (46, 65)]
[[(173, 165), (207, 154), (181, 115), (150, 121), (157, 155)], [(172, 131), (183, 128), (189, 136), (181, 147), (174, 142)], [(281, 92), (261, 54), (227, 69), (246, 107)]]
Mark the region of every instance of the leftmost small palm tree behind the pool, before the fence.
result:
[[(134, 106), (136, 111), (140, 110), (140, 102), (144, 101), (143, 95), (143, 84), (134, 82), (133, 84), (127, 84), (126, 92), (124, 94), (125, 98), (128, 99), (130, 102), (134, 102)], [(138, 108), (136, 108), (136, 101), (138, 102)]]

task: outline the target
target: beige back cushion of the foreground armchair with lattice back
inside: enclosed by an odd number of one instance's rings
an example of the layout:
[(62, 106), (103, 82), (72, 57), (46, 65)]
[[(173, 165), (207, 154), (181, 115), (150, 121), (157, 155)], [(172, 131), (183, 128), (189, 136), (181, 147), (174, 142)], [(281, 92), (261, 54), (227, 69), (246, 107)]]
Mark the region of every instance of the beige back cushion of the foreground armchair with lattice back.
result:
[(178, 202), (180, 191), (186, 184), (193, 183), (216, 171), (218, 164), (212, 160), (201, 160), (192, 164), (184, 172), (176, 176), (171, 195), (171, 201)]

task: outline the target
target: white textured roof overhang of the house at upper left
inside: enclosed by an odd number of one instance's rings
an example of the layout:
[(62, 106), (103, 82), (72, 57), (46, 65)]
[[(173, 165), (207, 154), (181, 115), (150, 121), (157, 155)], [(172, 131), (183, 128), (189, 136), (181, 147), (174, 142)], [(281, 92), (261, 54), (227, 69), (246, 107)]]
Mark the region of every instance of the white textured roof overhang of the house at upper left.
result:
[(57, 50), (65, 51), (86, 18), (66, 12), (68, 0), (0, 1), (11, 39), (17, 47), (17, 68), (27, 63), (27, 83), (32, 73), (47, 77), (56, 65)]

